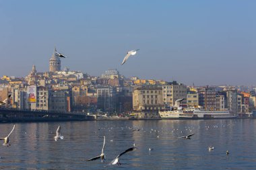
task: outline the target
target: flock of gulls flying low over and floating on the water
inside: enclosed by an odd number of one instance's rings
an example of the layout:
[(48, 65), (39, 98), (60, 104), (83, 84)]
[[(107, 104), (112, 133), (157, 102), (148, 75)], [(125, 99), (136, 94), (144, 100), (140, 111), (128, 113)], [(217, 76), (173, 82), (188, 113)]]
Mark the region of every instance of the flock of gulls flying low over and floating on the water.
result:
[[(128, 127), (129, 130), (131, 130), (131, 132), (146, 132), (146, 130), (143, 130), (143, 128), (131, 128), (131, 127)], [(206, 130), (208, 130), (210, 128), (210, 126), (205, 126)], [(218, 126), (213, 126), (213, 128), (218, 128)], [(3, 146), (11, 146), (10, 144), (10, 140), (9, 140), (9, 136), (11, 135), (11, 133), (13, 132), (13, 130), (15, 129), (15, 125), (13, 125), (13, 128), (11, 129), (11, 132), (9, 132), (9, 134), (5, 137), (5, 138), (0, 138), (0, 140), (3, 140)], [(101, 129), (105, 129), (105, 128), (101, 128)], [(113, 128), (108, 128), (108, 131), (111, 132)], [(124, 128), (121, 127), (121, 130), (123, 130)], [(163, 129), (163, 128), (162, 128)], [(100, 128), (98, 128), (98, 130), (100, 130)], [(187, 128), (185, 127), (185, 130), (187, 131), (192, 131), (190, 128)], [(171, 132), (174, 132), (174, 131), (179, 131), (179, 129), (173, 129)], [(160, 131), (159, 130), (154, 130), (154, 129), (151, 129), (149, 131), (150, 133), (153, 133), (153, 132), (156, 132), (158, 134), (160, 134)], [(26, 133), (26, 132), (25, 132)], [(181, 130), (180, 131), (181, 134), (183, 134), (183, 131)], [(95, 134), (97, 134), (97, 131), (95, 131)], [(183, 138), (185, 140), (190, 140), (192, 138), (192, 136), (195, 135), (195, 133), (192, 133), (192, 134), (189, 134), (189, 135), (185, 135), (185, 136), (178, 136), (177, 138)], [(105, 146), (105, 143), (106, 143), (106, 136), (105, 135), (101, 135), (101, 136), (98, 136), (98, 138), (103, 138), (103, 146), (102, 146), (102, 150), (101, 150), (101, 153), (96, 156), (96, 157), (92, 157), (90, 159), (87, 159), (87, 160), (84, 160), (84, 161), (95, 161), (95, 160), (98, 160), (100, 159), (101, 162), (103, 163), (105, 161), (105, 153), (104, 153), (104, 146)], [(156, 136), (156, 138), (160, 138), (159, 135)], [(53, 139), (57, 142), (58, 140), (63, 140), (64, 139), (64, 136), (61, 135), (61, 126), (58, 126), (57, 130), (56, 130), (56, 136), (53, 137)], [(110, 142), (113, 142), (113, 140), (110, 140)], [(130, 147), (130, 148), (127, 148), (125, 151), (123, 151), (122, 153), (120, 153), (119, 155), (117, 155), (117, 157), (115, 157), (115, 159), (113, 159), (113, 161), (110, 161), (110, 163), (108, 163), (106, 166), (110, 166), (110, 165), (121, 165), (119, 159), (122, 155), (125, 155), (125, 153), (128, 153), (130, 151), (135, 151), (136, 150), (136, 146), (135, 146), (135, 143), (133, 143), (133, 146)], [(153, 151), (154, 148), (148, 148), (148, 151)], [(209, 151), (212, 151), (214, 150), (214, 146), (208, 146), (208, 150)], [(226, 151), (226, 155), (228, 155), (229, 152)], [(1, 159), (1, 157), (0, 157)]]

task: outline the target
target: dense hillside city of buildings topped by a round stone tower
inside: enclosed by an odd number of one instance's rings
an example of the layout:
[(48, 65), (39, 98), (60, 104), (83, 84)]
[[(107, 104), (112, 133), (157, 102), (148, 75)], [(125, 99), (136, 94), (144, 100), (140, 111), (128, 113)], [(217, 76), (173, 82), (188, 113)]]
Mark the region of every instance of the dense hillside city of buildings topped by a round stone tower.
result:
[(230, 110), (247, 113), (255, 110), (255, 89), (234, 86), (191, 87), (153, 79), (125, 78), (117, 69), (108, 69), (100, 77), (80, 71), (61, 71), (61, 59), (53, 52), (49, 71), (38, 73), (36, 66), (25, 78), (0, 79), (0, 101), (5, 108), (51, 112), (106, 113), (110, 115), (144, 112), (157, 114), (169, 110), (184, 98), (184, 108)]

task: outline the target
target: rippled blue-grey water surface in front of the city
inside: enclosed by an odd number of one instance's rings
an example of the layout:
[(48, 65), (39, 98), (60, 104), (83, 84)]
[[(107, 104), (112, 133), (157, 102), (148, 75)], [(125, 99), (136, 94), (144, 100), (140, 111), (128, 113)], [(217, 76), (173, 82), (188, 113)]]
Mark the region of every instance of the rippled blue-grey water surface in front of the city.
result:
[[(59, 125), (64, 139), (55, 142)], [(0, 124), (0, 136), (12, 127)], [(11, 146), (0, 146), (0, 169), (256, 169), (255, 128), (256, 119), (16, 123)], [(101, 135), (106, 161), (86, 162), (100, 155)], [(133, 143), (120, 166), (105, 167)]]

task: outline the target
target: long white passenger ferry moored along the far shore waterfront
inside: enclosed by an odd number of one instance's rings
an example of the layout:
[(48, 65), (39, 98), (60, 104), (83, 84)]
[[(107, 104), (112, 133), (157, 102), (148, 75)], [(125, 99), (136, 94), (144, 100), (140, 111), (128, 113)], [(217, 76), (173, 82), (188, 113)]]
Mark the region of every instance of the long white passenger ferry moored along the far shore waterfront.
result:
[(224, 119), (236, 118), (236, 114), (229, 111), (201, 110), (199, 108), (185, 108), (183, 110), (172, 110), (159, 112), (162, 119)]

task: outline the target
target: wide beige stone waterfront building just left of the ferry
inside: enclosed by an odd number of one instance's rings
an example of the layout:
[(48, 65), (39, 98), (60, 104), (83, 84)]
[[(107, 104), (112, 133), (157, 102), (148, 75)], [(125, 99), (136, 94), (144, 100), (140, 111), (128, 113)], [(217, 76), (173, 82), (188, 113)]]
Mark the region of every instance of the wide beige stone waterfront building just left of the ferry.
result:
[(143, 86), (133, 89), (133, 110), (153, 112), (163, 109), (162, 87)]

